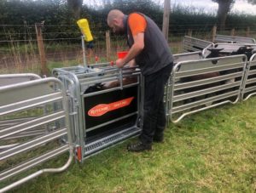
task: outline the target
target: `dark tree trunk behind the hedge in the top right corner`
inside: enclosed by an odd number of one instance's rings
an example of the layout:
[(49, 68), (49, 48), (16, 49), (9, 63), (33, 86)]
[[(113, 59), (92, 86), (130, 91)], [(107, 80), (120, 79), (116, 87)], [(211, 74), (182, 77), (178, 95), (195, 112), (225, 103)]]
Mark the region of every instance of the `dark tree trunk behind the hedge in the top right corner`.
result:
[[(220, 30), (224, 30), (227, 15), (236, 0), (212, 0), (218, 3), (217, 24)], [(256, 0), (247, 0), (248, 3), (256, 4)]]

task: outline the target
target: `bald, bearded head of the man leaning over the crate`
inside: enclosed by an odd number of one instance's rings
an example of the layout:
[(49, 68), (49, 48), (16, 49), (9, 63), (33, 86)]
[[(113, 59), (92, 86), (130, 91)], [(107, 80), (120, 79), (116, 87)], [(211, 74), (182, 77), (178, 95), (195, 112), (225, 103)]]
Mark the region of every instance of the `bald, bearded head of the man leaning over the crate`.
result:
[(114, 33), (123, 34), (125, 31), (125, 26), (123, 20), (125, 14), (119, 9), (113, 9), (108, 13), (108, 26), (113, 30)]

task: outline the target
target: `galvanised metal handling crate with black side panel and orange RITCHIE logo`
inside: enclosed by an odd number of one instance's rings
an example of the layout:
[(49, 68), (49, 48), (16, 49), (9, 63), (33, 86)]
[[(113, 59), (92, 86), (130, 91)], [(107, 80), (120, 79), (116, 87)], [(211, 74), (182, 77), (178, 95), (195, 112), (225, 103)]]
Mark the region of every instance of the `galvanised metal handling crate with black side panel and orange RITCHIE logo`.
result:
[[(79, 162), (140, 133), (137, 126), (143, 111), (140, 71), (104, 63), (89, 68), (55, 69), (53, 74), (64, 83), (70, 95), (70, 122)], [(134, 82), (125, 82), (125, 78), (131, 77), (135, 78)], [(108, 82), (116, 85), (104, 88)]]

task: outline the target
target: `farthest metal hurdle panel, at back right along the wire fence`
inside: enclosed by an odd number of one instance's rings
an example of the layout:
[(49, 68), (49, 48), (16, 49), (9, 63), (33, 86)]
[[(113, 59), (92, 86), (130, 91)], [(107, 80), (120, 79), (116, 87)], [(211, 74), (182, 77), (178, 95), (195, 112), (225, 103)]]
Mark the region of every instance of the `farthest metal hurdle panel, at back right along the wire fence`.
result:
[(214, 43), (256, 43), (255, 39), (250, 37), (232, 37), (218, 34), (214, 37), (214, 40)]

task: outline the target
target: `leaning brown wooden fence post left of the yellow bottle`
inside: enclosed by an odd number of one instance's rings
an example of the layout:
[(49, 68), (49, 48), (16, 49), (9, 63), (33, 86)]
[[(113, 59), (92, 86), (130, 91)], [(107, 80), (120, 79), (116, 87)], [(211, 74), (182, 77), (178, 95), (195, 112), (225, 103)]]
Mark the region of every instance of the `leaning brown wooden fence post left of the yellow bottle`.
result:
[(42, 67), (42, 74), (48, 75), (49, 71), (46, 66), (46, 58), (44, 53), (44, 42), (43, 42), (43, 35), (42, 35), (42, 27), (44, 26), (43, 23), (36, 23), (36, 33), (37, 33), (37, 39), (38, 39), (38, 50), (40, 55), (40, 62)]

